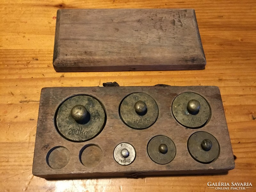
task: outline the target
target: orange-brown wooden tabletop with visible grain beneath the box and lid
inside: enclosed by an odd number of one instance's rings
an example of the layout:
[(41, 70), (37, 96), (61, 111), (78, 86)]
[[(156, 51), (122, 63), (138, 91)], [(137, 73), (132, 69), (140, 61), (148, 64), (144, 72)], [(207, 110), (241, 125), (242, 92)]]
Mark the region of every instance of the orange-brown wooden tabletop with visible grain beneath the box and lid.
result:
[[(205, 70), (57, 73), (52, 67), (60, 8), (194, 8)], [(0, 191), (215, 191), (208, 182), (251, 182), (256, 190), (256, 2), (33, 1), (0, 4)], [(236, 167), (220, 175), (44, 180), (32, 175), (40, 91), (51, 86), (216, 85)]]

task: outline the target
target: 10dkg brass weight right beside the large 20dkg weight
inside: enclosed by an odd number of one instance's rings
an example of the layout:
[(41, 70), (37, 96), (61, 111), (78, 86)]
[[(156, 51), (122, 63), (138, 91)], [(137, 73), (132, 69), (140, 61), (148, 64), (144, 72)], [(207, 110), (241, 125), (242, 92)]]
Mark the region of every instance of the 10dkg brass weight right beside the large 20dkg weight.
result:
[(145, 129), (156, 122), (158, 107), (156, 101), (145, 93), (132, 93), (120, 105), (120, 117), (133, 129)]

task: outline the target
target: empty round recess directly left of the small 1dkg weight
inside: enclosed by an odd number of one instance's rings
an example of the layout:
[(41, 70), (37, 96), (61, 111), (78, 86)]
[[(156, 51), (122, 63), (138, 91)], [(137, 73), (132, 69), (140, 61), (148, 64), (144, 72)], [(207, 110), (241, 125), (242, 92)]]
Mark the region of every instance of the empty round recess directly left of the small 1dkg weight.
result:
[(102, 160), (102, 150), (97, 145), (89, 145), (82, 149), (80, 153), (80, 161), (85, 167), (95, 167)]

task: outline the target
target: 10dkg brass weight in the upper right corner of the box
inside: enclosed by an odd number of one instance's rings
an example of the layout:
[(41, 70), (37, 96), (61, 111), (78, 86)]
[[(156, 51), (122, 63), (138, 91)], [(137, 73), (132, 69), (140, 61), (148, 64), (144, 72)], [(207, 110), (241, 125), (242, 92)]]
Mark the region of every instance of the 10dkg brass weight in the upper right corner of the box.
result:
[(210, 107), (206, 100), (193, 92), (178, 95), (172, 103), (172, 114), (185, 127), (200, 128), (210, 118)]

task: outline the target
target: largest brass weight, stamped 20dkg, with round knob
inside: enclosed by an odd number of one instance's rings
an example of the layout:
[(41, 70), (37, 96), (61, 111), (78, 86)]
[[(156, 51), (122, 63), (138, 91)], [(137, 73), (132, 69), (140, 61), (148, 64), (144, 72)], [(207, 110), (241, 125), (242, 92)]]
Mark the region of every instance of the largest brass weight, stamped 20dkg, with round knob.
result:
[[(74, 106), (79, 105), (86, 108), (86, 114), (81, 119), (78, 115), (77, 118), (74, 116)], [(98, 100), (87, 95), (71, 97), (64, 101), (57, 110), (57, 130), (64, 138), (71, 141), (90, 140), (99, 134), (105, 125), (106, 115), (102, 105)]]

